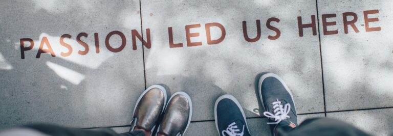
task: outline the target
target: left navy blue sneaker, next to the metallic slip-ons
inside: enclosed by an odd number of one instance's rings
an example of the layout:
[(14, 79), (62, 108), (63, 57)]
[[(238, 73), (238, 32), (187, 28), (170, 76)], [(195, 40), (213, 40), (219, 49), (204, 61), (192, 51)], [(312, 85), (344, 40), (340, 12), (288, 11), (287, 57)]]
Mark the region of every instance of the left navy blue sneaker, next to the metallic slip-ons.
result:
[(221, 136), (250, 135), (243, 108), (232, 95), (220, 96), (215, 101), (214, 119)]

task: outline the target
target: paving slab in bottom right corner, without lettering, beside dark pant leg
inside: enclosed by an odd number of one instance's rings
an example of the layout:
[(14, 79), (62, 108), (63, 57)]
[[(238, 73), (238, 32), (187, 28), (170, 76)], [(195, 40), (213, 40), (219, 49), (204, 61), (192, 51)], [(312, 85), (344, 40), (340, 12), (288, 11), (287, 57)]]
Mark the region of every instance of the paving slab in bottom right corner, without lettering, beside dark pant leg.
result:
[(393, 134), (393, 108), (351, 112), (328, 113), (326, 117), (336, 118), (364, 130), (372, 135), (387, 136)]

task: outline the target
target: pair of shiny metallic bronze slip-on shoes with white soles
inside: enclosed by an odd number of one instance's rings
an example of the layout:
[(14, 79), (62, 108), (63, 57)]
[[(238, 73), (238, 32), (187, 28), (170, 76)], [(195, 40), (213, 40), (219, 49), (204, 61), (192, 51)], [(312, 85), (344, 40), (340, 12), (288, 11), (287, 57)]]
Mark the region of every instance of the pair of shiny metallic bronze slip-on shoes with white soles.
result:
[(166, 94), (160, 85), (147, 88), (137, 100), (130, 130), (144, 129), (151, 135), (184, 135), (191, 122), (191, 98), (184, 92), (177, 92), (167, 102)]

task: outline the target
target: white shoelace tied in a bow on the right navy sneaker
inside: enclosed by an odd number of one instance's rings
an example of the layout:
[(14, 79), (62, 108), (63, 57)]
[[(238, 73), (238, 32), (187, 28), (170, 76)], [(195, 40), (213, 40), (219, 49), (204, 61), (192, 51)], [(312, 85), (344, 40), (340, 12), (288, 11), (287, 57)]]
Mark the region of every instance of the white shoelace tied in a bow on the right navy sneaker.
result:
[(277, 101), (272, 102), (273, 104), (273, 113), (270, 112), (264, 112), (264, 115), (268, 118), (274, 118), (274, 121), (276, 122), (268, 122), (268, 124), (278, 124), (282, 120), (285, 120), (287, 118), (291, 118), (288, 116), (289, 112), (291, 112), (291, 105), (289, 103), (285, 104), (282, 106), (281, 101), (276, 99)]

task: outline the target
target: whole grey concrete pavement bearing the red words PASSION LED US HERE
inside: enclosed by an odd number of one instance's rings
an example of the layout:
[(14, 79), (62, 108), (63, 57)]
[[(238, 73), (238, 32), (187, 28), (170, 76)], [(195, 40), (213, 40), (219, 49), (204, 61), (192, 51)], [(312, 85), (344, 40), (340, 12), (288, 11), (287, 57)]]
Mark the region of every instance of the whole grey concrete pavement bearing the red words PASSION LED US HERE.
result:
[[(274, 72), (292, 90), (298, 113), (310, 113), (300, 115), (299, 122), (324, 117), (323, 112), (328, 111), (328, 117), (387, 135), (393, 128), (392, 108), (364, 108), (393, 107), (391, 7), (393, 2), (381, 0), (1, 1), (0, 130), (45, 122), (125, 132), (129, 127), (114, 126), (129, 125), (145, 85), (164, 84), (172, 94), (185, 91), (193, 100), (192, 121), (197, 122), (191, 123), (187, 135), (217, 134), (213, 103), (223, 94), (234, 95), (242, 104), (252, 134), (269, 135), (266, 118), (260, 118), (258, 110), (256, 82), (261, 72)], [(308, 28), (299, 37), (297, 17), (310, 23), (317, 10), (321, 34), (317, 30), (313, 35)], [(379, 26), (381, 31), (365, 31), (365, 10), (379, 11), (368, 18), (378, 17), (369, 27)], [(344, 12), (357, 14), (354, 25), (359, 33), (348, 26), (348, 34), (344, 34)], [(336, 21), (336, 25), (327, 28), (337, 29), (338, 34), (324, 35), (322, 15), (332, 13), (337, 17), (326, 20)], [(266, 26), (271, 17), (280, 20), (271, 23), (281, 32), (276, 40), (268, 39), (276, 34)], [(247, 42), (242, 21), (247, 21), (248, 35), (254, 38), (257, 19), (260, 39)], [(211, 22), (225, 27), (225, 39), (219, 44), (207, 44), (205, 24)], [(200, 33), (191, 41), (201, 41), (201, 46), (187, 46), (185, 26), (190, 24), (201, 24), (190, 30)], [(137, 39), (133, 50), (131, 31), (141, 33), (141, 26), (145, 39), (145, 29), (150, 29), (151, 48), (142, 49)], [(172, 27), (173, 42), (183, 43), (183, 47), (169, 48), (168, 27)], [(105, 47), (106, 35), (115, 30), (126, 37), (125, 48), (116, 53)], [(76, 40), (81, 32), (88, 34), (81, 38), (90, 48), (85, 56), (77, 53), (84, 49)], [(220, 37), (220, 29), (212, 27), (211, 32), (212, 39)], [(94, 33), (99, 35), (98, 54)], [(63, 34), (72, 35), (64, 40), (73, 48), (69, 57), (60, 55), (67, 51), (59, 43)], [(48, 38), (56, 57), (42, 53), (35, 58), (43, 37)], [(21, 38), (31, 38), (35, 44), (25, 51), (26, 59), (20, 59)], [(119, 47), (121, 39), (114, 36), (110, 43)]]

